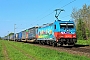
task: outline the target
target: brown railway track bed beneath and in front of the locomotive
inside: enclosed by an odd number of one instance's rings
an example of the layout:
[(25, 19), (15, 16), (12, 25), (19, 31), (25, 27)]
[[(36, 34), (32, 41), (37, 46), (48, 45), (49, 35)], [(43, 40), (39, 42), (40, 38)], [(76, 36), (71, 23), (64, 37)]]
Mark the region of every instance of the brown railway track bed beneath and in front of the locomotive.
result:
[(49, 45), (40, 45), (40, 44), (33, 44), (33, 45), (57, 50), (60, 52), (67, 52), (70, 54), (80, 55), (80, 56), (84, 55), (90, 58), (90, 46), (89, 45), (75, 45), (75, 46), (62, 46), (62, 47), (53, 47)]

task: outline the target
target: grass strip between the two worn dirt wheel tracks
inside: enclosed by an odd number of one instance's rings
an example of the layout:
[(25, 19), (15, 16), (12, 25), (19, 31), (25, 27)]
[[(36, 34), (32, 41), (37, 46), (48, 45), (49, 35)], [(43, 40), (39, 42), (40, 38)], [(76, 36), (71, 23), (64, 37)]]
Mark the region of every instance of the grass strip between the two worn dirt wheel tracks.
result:
[(5, 44), (7, 49), (7, 54), (10, 60), (32, 60), (29, 57), (25, 56), (23, 53), (21, 53), (21, 51), (9, 45), (8, 42), (10, 41), (0, 41), (0, 42)]

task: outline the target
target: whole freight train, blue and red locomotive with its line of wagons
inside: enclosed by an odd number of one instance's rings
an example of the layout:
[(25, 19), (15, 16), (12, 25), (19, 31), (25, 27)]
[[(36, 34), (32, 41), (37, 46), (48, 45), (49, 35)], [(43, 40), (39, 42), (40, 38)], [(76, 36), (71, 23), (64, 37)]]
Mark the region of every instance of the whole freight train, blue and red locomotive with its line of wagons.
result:
[(61, 20), (38, 27), (31, 27), (9, 37), (11, 37), (10, 40), (14, 40), (15, 37), (16, 41), (38, 42), (39, 44), (53, 46), (74, 45), (77, 42), (74, 22)]

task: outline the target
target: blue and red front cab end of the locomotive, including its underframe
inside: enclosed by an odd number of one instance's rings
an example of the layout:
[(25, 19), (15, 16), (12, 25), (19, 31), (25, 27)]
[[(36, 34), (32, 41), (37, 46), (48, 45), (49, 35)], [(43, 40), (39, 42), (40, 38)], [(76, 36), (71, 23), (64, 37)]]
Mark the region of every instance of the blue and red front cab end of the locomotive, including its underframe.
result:
[(72, 45), (77, 42), (76, 29), (73, 21), (56, 21), (54, 35), (58, 44)]

